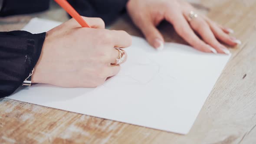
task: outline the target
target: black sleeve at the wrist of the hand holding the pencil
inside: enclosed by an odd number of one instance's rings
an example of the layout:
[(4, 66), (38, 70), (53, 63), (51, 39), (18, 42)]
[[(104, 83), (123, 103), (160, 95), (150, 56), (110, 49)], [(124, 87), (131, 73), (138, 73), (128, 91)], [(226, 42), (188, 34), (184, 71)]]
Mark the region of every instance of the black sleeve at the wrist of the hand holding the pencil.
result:
[(0, 32), (0, 98), (11, 95), (38, 61), (46, 33)]

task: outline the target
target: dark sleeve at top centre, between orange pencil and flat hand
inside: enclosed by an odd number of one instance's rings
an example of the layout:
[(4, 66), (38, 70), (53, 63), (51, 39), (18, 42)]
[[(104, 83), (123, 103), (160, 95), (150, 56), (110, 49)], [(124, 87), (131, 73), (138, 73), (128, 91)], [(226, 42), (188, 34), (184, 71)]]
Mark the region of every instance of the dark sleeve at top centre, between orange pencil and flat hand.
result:
[(68, 0), (82, 16), (100, 17), (108, 25), (125, 10), (128, 0)]

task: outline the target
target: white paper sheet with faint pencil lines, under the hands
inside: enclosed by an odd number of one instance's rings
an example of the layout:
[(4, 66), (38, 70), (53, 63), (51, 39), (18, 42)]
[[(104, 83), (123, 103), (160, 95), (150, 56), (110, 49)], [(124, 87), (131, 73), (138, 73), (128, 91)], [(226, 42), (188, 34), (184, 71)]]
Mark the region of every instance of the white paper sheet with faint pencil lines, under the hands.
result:
[[(58, 22), (33, 19), (23, 28), (41, 33)], [(37, 84), (8, 98), (148, 128), (187, 134), (230, 56), (166, 43), (156, 51), (133, 37), (121, 71), (97, 88)], [(64, 78), (63, 78), (64, 79)]]

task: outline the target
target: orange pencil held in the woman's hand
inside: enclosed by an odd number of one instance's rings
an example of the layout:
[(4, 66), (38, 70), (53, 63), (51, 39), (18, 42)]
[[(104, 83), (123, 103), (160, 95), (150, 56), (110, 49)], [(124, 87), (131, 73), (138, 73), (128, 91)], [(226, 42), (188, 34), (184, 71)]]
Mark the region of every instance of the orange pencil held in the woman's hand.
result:
[(70, 16), (72, 16), (82, 27), (90, 27), (88, 23), (77, 13), (77, 11), (66, 0), (55, 0)]

